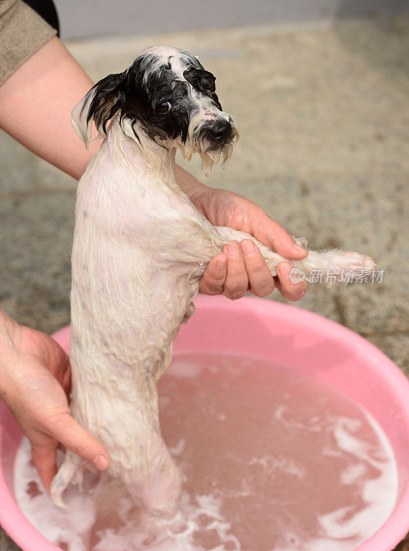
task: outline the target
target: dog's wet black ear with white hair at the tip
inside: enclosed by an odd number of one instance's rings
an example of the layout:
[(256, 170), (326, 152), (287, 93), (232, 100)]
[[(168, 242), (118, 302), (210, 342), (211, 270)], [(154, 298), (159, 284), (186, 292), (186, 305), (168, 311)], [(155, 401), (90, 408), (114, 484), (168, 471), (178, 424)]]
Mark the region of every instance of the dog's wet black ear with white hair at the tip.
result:
[(94, 139), (105, 138), (107, 135), (107, 122), (123, 104), (126, 82), (125, 72), (105, 76), (72, 110), (72, 126), (87, 149), (90, 147), (92, 121), (98, 130), (98, 136)]

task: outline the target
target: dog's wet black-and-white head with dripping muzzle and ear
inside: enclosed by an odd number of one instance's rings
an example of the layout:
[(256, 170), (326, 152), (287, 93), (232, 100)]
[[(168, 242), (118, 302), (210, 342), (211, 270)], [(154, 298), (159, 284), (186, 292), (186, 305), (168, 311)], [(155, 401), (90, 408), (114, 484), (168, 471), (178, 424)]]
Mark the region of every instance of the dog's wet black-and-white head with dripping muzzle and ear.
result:
[[(185, 50), (156, 46), (144, 50), (127, 70), (99, 81), (72, 112), (72, 124), (88, 147), (92, 121), (98, 137), (120, 112), (140, 121), (149, 138), (165, 147), (178, 147), (190, 160), (200, 154), (211, 169), (223, 163), (238, 140), (234, 119), (224, 113), (216, 95), (216, 78)], [(135, 136), (137, 138), (137, 136)]]

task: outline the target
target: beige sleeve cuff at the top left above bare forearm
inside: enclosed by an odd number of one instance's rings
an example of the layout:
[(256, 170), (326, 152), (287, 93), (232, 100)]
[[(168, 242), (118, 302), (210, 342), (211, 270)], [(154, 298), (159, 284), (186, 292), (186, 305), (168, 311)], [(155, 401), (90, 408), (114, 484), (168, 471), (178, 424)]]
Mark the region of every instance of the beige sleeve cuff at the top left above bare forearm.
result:
[(54, 34), (23, 1), (0, 0), (0, 84)]

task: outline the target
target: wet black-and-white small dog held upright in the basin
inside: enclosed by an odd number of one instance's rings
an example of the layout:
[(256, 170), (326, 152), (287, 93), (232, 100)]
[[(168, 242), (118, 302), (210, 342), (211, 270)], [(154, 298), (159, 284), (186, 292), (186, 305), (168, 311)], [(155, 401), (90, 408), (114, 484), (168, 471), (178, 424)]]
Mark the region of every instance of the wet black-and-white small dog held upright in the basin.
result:
[[(171, 512), (181, 481), (160, 435), (156, 382), (211, 258), (231, 239), (253, 239), (200, 214), (176, 183), (175, 154), (197, 153), (210, 171), (230, 158), (238, 129), (222, 110), (213, 74), (167, 46), (145, 50), (74, 108), (72, 123), (87, 147), (93, 122), (104, 141), (77, 191), (71, 411), (104, 444), (109, 474), (147, 510)], [(253, 240), (275, 275), (284, 259)], [(291, 262), (306, 275), (331, 269), (335, 280), (345, 269), (353, 277), (375, 269), (372, 259), (339, 250)], [(81, 481), (84, 467), (67, 452), (52, 483), (54, 503), (63, 506), (63, 491)]]

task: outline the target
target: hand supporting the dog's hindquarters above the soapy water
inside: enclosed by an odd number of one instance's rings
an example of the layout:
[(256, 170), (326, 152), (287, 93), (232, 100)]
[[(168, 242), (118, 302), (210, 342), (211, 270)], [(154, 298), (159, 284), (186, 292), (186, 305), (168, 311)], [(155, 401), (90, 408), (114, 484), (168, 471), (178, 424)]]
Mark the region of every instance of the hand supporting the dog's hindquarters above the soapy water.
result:
[(109, 455), (70, 415), (70, 360), (52, 337), (0, 311), (0, 397), (31, 443), (34, 465), (50, 491), (59, 444), (99, 470)]

